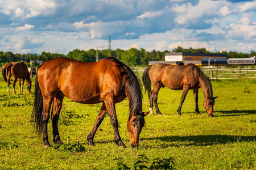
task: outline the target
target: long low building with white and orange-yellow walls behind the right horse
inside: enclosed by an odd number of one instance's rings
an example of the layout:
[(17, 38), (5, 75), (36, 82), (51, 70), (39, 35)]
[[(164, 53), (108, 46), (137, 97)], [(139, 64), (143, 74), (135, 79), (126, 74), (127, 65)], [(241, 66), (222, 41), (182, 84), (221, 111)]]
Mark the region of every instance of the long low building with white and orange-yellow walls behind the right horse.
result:
[(149, 65), (154, 63), (170, 63), (174, 65), (182, 65), (187, 63), (195, 63), (195, 65), (225, 65), (227, 64), (226, 54), (213, 53), (166, 53), (165, 61), (150, 61)]

